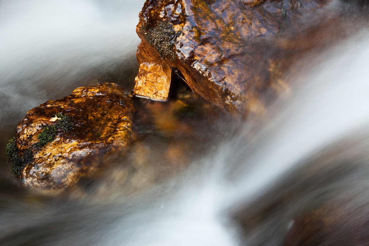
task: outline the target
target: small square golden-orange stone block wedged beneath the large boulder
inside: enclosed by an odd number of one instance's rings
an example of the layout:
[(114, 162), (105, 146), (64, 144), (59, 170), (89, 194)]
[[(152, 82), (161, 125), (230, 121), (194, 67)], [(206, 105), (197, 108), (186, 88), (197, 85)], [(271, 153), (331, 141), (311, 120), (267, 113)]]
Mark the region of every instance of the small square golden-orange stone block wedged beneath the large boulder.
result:
[(171, 81), (171, 68), (143, 62), (135, 78), (133, 93), (142, 98), (165, 101), (169, 96)]

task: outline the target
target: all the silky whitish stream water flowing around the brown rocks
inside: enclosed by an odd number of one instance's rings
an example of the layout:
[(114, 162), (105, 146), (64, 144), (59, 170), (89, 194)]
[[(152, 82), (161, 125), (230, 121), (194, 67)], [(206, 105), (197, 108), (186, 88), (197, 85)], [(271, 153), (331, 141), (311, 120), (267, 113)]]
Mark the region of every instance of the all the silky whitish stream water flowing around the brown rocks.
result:
[[(100, 77), (132, 89), (143, 3), (0, 1), (1, 149), (46, 100)], [(368, 40), (369, 29), (357, 28), (294, 64), (290, 90), (263, 120), (219, 120), (231, 137), (213, 137), (180, 175), (157, 181), (165, 164), (153, 156), (155, 168), (127, 184), (118, 158), (90, 187), (39, 194), (18, 185), (1, 155), (0, 245), (280, 245), (296, 216), (327, 204), (350, 225), (365, 223)]]

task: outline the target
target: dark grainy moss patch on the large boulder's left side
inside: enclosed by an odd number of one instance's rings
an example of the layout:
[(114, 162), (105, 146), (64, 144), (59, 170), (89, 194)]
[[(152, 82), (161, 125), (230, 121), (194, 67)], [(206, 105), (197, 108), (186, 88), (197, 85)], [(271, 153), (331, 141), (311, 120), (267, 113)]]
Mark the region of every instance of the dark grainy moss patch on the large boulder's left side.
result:
[(168, 21), (158, 21), (154, 25), (144, 25), (145, 38), (162, 58), (174, 60), (174, 43), (179, 33), (173, 30), (173, 25)]

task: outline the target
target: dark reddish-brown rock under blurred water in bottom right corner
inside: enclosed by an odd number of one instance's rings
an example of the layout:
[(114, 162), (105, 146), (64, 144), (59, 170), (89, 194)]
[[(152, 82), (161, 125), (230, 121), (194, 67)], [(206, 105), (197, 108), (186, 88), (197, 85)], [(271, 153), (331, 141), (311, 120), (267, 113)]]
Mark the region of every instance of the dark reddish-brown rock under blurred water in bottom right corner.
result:
[(294, 219), (283, 246), (368, 245), (368, 210), (325, 205)]

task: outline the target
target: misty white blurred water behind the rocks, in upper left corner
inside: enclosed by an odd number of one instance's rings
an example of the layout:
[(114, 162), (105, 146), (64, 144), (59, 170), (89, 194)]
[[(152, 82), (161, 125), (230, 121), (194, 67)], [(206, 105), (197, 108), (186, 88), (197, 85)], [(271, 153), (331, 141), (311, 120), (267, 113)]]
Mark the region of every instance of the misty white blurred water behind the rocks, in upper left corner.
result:
[(138, 69), (135, 25), (143, 3), (1, 1), (1, 127), (100, 77), (132, 89)]

